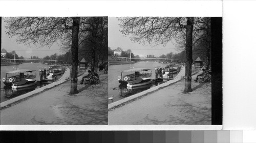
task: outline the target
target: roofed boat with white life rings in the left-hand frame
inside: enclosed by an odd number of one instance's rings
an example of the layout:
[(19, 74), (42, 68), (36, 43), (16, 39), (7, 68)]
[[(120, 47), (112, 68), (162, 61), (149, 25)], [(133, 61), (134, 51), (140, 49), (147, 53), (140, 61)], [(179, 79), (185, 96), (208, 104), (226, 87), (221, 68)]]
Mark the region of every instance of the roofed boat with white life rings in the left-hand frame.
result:
[[(35, 73), (33, 73), (35, 71)], [(22, 81), (23, 79), (34, 79), (36, 78), (36, 70), (31, 69), (19, 69), (14, 71), (9, 71), (6, 73), (3, 82), (5, 85), (12, 85), (13, 83)]]

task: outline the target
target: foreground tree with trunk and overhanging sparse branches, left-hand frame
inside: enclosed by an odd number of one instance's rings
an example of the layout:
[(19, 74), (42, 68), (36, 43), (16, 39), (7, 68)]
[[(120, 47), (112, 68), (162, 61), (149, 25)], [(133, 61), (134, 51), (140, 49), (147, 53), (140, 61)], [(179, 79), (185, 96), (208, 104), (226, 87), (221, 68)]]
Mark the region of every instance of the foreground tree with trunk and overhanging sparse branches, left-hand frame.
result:
[[(79, 25), (86, 17), (10, 17), (6, 18), (7, 34), (19, 43), (49, 46), (65, 37), (72, 39), (72, 71), (70, 94), (77, 90)], [(72, 33), (72, 35), (70, 35)]]

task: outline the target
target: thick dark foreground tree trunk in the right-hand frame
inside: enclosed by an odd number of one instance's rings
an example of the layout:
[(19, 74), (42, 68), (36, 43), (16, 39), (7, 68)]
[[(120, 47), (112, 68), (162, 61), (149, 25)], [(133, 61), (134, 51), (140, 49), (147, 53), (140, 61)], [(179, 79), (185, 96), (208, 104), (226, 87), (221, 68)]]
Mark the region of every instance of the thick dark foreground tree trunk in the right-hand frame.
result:
[(192, 67), (192, 34), (194, 17), (187, 17), (186, 27), (186, 68), (185, 68), (185, 89), (184, 93), (193, 91), (191, 88), (191, 67)]

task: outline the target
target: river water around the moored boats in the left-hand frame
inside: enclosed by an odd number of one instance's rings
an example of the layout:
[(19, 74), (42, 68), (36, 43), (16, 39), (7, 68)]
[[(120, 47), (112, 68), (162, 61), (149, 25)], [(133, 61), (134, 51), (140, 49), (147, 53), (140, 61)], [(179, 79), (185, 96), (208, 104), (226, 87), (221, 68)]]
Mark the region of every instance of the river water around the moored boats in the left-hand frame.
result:
[[(9, 99), (15, 98), (17, 96), (20, 96), (22, 94), (28, 93), (30, 91), (33, 91), (37, 88), (40, 88), (42, 86), (45, 86), (47, 84), (41, 84), (37, 83), (37, 85), (25, 87), (25, 88), (19, 88), (12, 89), (11, 86), (6, 86), (3, 82), (3, 78), (6, 76), (6, 73), (9, 71), (17, 70), (17, 69), (31, 69), (36, 70), (36, 78), (34, 80), (39, 81), (39, 69), (45, 67), (48, 69), (48, 65), (41, 64), (41, 63), (23, 63), (18, 65), (9, 65), (9, 66), (1, 66), (1, 97), (0, 102), (7, 101)], [(34, 73), (34, 72), (33, 72)], [(61, 75), (58, 76), (58, 79), (61, 77)]]

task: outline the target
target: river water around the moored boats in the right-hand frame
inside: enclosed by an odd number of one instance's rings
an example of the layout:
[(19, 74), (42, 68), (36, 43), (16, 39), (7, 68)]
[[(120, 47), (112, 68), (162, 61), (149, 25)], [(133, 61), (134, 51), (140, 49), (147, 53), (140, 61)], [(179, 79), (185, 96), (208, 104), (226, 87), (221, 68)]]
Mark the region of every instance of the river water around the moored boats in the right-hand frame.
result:
[[(162, 66), (164, 67), (165, 64), (158, 63), (158, 62), (138, 62), (133, 64), (123, 64), (123, 65), (110, 65), (109, 66), (109, 98), (114, 95), (113, 100), (109, 100), (109, 104), (121, 100), (126, 97), (130, 97), (136, 93), (142, 92), (144, 90), (150, 89), (151, 87), (157, 86), (162, 84), (162, 82), (154, 82), (152, 84), (138, 86), (132, 89), (127, 89), (126, 85), (122, 85), (118, 82), (117, 77), (120, 76), (122, 70), (127, 70), (130, 68), (148, 68), (152, 69), (152, 76), (149, 77), (151, 79), (155, 79), (155, 67)], [(174, 74), (174, 77), (177, 74)]]

